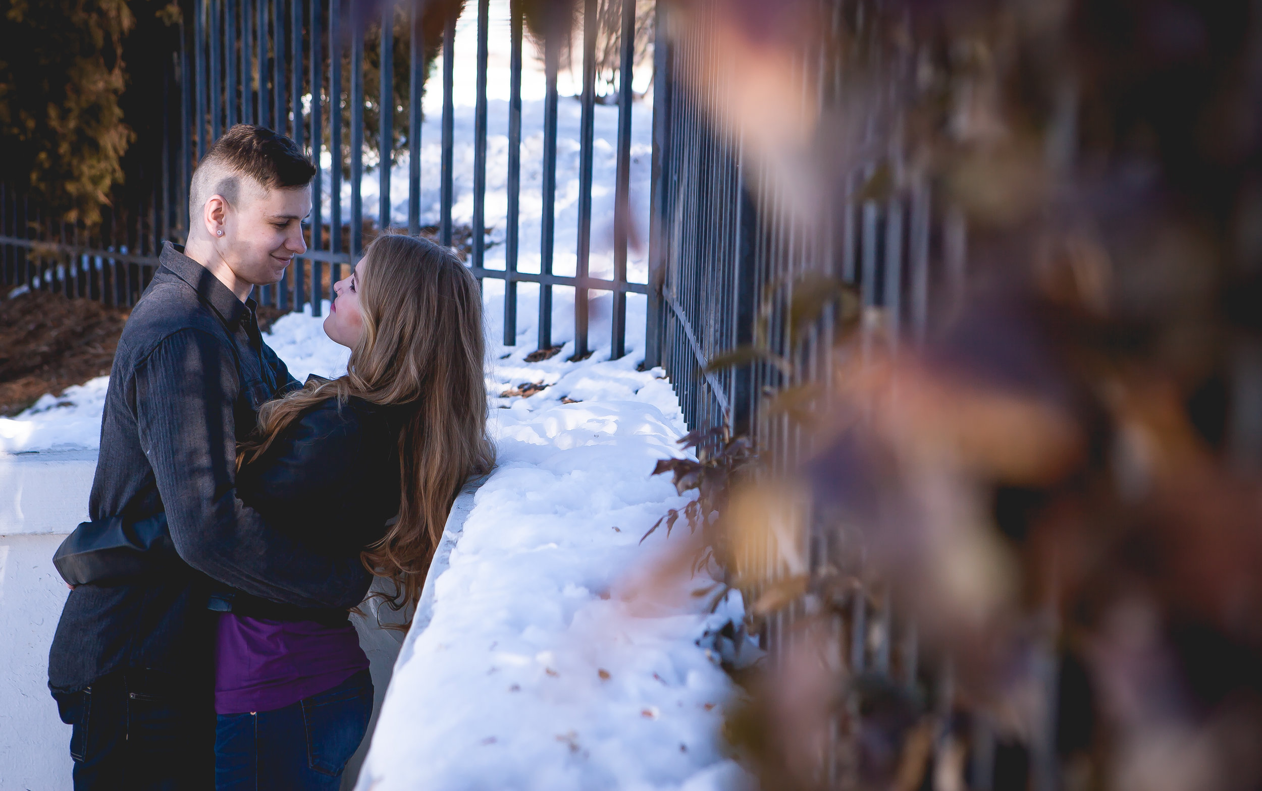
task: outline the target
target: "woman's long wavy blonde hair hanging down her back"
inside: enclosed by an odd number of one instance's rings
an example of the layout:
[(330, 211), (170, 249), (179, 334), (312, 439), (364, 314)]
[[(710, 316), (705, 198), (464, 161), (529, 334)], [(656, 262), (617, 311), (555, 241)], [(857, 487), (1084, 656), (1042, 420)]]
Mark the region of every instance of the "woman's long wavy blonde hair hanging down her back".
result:
[(399, 434), (399, 519), (362, 554), (370, 571), (398, 585), (389, 604), (399, 609), (420, 597), (461, 486), (495, 464), (486, 433), (482, 295), (453, 251), (413, 236), (377, 237), (358, 272), (363, 331), (346, 375), (264, 404), (237, 462), (256, 459), (327, 399), (413, 406)]

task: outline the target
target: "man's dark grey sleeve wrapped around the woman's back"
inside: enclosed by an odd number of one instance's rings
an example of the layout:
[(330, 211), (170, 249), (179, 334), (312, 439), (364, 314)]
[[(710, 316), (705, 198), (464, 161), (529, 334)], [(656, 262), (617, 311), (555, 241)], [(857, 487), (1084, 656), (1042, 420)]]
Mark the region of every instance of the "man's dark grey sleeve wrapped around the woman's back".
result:
[(237, 498), (237, 386), (230, 349), (197, 329), (167, 337), (135, 371), (136, 423), (175, 551), (209, 577), (300, 607), (355, 607), (371, 578), (355, 556), (314, 553)]

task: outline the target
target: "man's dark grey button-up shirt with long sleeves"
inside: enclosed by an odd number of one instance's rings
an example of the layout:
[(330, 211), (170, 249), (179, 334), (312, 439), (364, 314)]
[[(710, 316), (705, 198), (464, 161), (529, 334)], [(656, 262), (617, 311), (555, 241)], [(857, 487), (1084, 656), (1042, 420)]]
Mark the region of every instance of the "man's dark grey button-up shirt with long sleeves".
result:
[(183, 563), (141, 584), (72, 590), (49, 652), (56, 690), (122, 667), (204, 681), (207, 575), (302, 607), (353, 607), (370, 582), (358, 558), (317, 554), (237, 498), (237, 442), (264, 401), (298, 384), (262, 342), (254, 300), (179, 247), (160, 260), (119, 338), (88, 510), (92, 520), (165, 510)]

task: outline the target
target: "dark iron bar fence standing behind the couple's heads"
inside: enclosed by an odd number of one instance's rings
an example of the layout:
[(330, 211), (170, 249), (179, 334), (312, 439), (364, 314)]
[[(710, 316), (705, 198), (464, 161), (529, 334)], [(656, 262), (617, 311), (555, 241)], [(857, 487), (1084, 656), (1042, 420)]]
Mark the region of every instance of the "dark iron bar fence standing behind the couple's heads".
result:
[[(398, 148), (394, 115), (381, 108), (396, 106), (395, 69), (377, 67), (379, 96), (365, 96), (365, 42), (379, 47), (379, 63), (395, 62), (396, 29), (405, 21), (410, 62), (406, 69), (406, 130), (400, 130), (401, 145), (409, 158), (408, 225), (409, 233), (429, 233), (444, 245), (467, 235), (467, 264), (480, 279), (505, 281), (504, 343), (514, 344), (517, 334), (517, 284), (539, 285), (539, 348), (553, 344), (553, 290), (574, 290), (574, 354), (591, 353), (588, 337), (589, 294), (612, 294), (611, 349), (613, 357), (626, 351), (626, 295), (645, 294), (642, 283), (627, 280), (630, 217), (628, 183), (631, 160), (630, 90), (635, 61), (635, 0), (622, 4), (620, 58), (617, 175), (613, 188), (615, 250), (612, 279), (589, 274), (592, 242), (592, 180), (596, 105), (596, 47), (601, 20), (596, 0), (582, 5), (582, 52), (569, 53), (570, 19), (557, 14), (544, 39), (544, 145), (539, 165), (543, 170), (543, 220), (540, 271), (521, 271), (519, 207), (521, 198), (521, 79), (525, 16), (521, 0), (509, 9), (511, 67), (509, 101), (507, 214), (505, 227), (505, 269), (487, 269), (486, 184), (487, 184), (487, 57), (490, 1), (358, 4), (346, 0), (192, 0), (183, 5), (177, 49), (162, 97), (164, 124), (160, 135), (138, 140), (134, 149), (149, 151), (145, 168), (155, 174), (151, 188), (130, 202), (117, 202), (106, 209), (105, 221), (91, 230), (77, 223), (49, 220), (40, 207), (11, 185), (0, 190), (0, 260), (4, 285), (27, 286), (64, 293), (68, 296), (101, 299), (107, 304), (129, 305), (139, 299), (158, 265), (162, 242), (182, 242), (188, 227), (187, 185), (189, 175), (215, 140), (233, 124), (257, 124), (283, 131), (299, 143), (317, 164), (314, 201), (308, 251), (286, 270), (275, 286), (264, 286), (255, 295), (261, 304), (300, 310), (310, 307), (321, 314), (321, 298), (331, 295), (332, 283), (352, 267), (366, 241), (392, 226), (390, 217), (390, 153)], [(468, 228), (457, 228), (452, 220), (454, 198), (454, 61), (456, 24), (461, 14), (477, 19), (477, 79), (473, 130), (473, 211)], [(427, 30), (438, 40), (427, 40)], [(606, 33), (608, 34), (608, 33)], [(437, 86), (427, 86), (428, 53), (440, 50), (443, 67), (435, 74)], [(577, 266), (574, 275), (557, 274), (553, 267), (557, 241), (557, 143), (558, 72), (563, 52), (582, 61), (582, 119), (579, 124), (581, 167), (577, 228)], [(435, 69), (437, 71), (437, 69)], [(348, 82), (350, 85), (343, 85)], [(422, 96), (427, 90), (442, 91), (442, 169), (440, 207), (437, 227), (422, 227)], [(381, 165), (380, 203), (365, 207), (362, 179), (366, 107), (376, 122), (376, 150)], [(343, 115), (343, 108), (345, 115)], [(322, 161), (321, 153), (329, 158)], [(343, 173), (345, 172), (345, 173)], [(135, 174), (129, 173), (129, 179)], [(350, 189), (348, 212), (341, 201), (343, 178)], [(327, 182), (327, 184), (326, 184)], [(324, 211), (318, 196), (332, 196)], [(133, 190), (134, 193), (135, 190)], [(327, 214), (327, 216), (326, 216)], [(463, 231), (463, 233), (462, 233)]]

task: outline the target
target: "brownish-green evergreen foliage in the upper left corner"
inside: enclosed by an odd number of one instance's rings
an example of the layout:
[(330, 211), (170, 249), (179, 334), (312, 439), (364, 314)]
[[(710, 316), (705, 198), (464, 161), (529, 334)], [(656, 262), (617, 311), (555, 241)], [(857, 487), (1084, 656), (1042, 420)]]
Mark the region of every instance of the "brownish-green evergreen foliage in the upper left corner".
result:
[(0, 180), (47, 220), (98, 223), (131, 144), (160, 127), (179, 18), (164, 0), (0, 3)]

